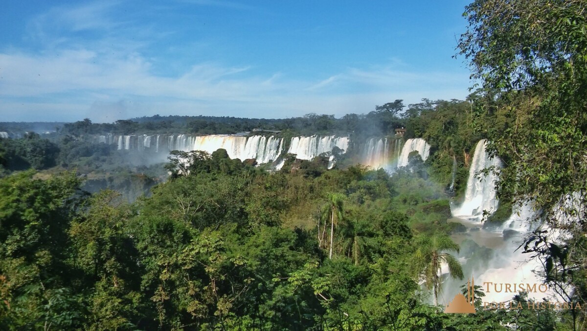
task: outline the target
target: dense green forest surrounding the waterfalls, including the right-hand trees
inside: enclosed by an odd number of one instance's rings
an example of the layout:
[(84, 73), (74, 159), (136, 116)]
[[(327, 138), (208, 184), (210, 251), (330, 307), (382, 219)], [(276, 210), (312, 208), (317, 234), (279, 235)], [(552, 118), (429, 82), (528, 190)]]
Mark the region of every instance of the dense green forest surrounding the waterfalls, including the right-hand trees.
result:
[[(467, 6), (458, 52), (480, 85), (466, 101), (396, 100), (339, 119), (86, 119), (0, 138), (0, 329), (587, 329), (584, 11), (582, 1)], [(430, 157), (411, 153), (393, 173), (357, 165), (352, 148), (333, 169), (323, 155), (290, 155), (271, 170), (223, 149), (144, 166), (84, 139), (255, 128), (357, 141), (406, 128), (404, 139), (430, 143)], [(503, 161), (500, 209), (485, 225), (534, 203), (547, 226), (520, 249), (542, 262), (537, 272), (561, 300), (582, 306), (490, 309), (483, 286), (476, 313), (436, 305), (441, 262), (467, 293), (454, 254), (477, 244), (451, 240), (464, 229), (450, 203), (480, 139)], [(519, 292), (508, 303), (536, 302)]]

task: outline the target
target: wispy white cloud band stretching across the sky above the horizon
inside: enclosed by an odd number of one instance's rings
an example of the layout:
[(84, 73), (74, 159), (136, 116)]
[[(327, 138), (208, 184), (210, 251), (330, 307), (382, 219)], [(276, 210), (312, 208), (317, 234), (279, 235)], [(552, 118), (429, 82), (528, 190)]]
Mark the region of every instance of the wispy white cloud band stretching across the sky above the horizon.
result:
[[(247, 8), (230, 1), (183, 2)], [(119, 7), (119, 2), (108, 1), (50, 9), (28, 24), (38, 51), (0, 48), (2, 118), (75, 121), (89, 116), (112, 122), (155, 113), (343, 115), (368, 112), (393, 99), (412, 103), (420, 98), (464, 98), (466, 92), (466, 77), (410, 70), (396, 58), (318, 78), (294, 79), (288, 72), (222, 61), (187, 63), (172, 74), (160, 68), (167, 59), (147, 51), (153, 35), (163, 38), (169, 32), (127, 24), (113, 15)], [(80, 33), (90, 35), (76, 36)]]

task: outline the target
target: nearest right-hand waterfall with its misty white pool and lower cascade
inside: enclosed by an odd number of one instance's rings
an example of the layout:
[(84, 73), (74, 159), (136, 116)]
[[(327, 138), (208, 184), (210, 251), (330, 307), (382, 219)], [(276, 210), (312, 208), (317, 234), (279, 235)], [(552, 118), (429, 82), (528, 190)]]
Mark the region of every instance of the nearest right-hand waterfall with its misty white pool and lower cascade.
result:
[[(464, 232), (454, 233), (452, 237), (461, 247), (456, 258), (463, 263), (465, 277), (474, 276), (475, 283), (486, 285), (483, 287), (483, 301), (507, 302), (518, 291), (507, 292), (501, 285), (496, 290), (485, 283), (539, 284), (542, 282), (532, 270), (539, 270), (541, 265), (518, 249), (522, 235), (529, 230), (529, 219), (533, 213), (529, 204), (515, 208), (510, 218), (501, 226), (483, 226), (483, 223), (480, 223), (483, 219), (483, 210), (487, 210), (491, 215), (498, 205), (495, 199), (498, 173), (490, 171), (486, 176), (478, 176), (480, 170), (501, 166), (500, 159), (489, 157), (485, 151), (486, 146), (487, 141), (482, 140), (475, 148), (463, 204), (451, 205), (453, 221), (461, 223), (466, 228)], [(443, 269), (443, 273), (446, 274), (447, 268)], [(460, 293), (460, 286), (464, 281), (447, 275), (443, 278), (442, 297), (445, 303), (448, 303), (456, 293)], [(486, 291), (487, 286), (490, 286), (489, 292)], [(552, 293), (529, 293), (529, 297), (541, 299), (550, 294)]]

